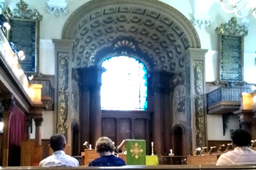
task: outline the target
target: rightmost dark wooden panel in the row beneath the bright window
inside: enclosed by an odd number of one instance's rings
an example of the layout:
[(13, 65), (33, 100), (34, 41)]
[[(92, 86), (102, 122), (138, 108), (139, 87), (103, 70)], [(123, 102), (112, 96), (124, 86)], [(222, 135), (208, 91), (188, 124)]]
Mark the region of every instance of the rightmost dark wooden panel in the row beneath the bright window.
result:
[(134, 138), (146, 140), (146, 123), (142, 118), (135, 119)]

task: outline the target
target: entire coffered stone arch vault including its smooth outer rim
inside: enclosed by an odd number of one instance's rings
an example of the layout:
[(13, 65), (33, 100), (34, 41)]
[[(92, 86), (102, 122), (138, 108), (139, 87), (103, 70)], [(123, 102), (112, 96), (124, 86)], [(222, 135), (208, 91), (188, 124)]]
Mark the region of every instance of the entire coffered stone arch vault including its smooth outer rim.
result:
[(179, 11), (151, 0), (94, 0), (67, 20), (63, 39), (74, 39), (76, 67), (97, 65), (103, 59), (128, 54), (148, 70), (184, 69), (184, 52), (200, 48), (195, 28)]

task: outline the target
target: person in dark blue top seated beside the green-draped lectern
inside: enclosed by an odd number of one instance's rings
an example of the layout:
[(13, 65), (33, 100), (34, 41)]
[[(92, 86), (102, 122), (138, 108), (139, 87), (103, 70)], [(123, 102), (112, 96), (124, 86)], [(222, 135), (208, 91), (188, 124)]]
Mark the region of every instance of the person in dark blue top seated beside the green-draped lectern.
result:
[(110, 167), (126, 165), (125, 161), (113, 155), (114, 145), (108, 137), (101, 137), (96, 142), (96, 152), (100, 154), (100, 158), (94, 159), (89, 166)]

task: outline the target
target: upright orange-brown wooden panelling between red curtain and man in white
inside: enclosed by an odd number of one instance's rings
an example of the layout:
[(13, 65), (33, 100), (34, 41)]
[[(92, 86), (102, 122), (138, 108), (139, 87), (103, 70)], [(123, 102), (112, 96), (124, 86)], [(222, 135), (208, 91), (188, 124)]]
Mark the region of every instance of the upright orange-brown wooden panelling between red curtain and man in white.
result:
[(20, 147), (20, 166), (33, 166), (35, 141), (21, 141)]

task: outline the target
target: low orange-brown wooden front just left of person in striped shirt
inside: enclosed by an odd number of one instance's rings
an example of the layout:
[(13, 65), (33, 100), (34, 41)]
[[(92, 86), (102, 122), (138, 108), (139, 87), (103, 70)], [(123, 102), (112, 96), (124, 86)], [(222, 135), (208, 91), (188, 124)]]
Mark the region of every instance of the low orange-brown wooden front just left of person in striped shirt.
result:
[(216, 165), (217, 155), (187, 156), (188, 165)]

